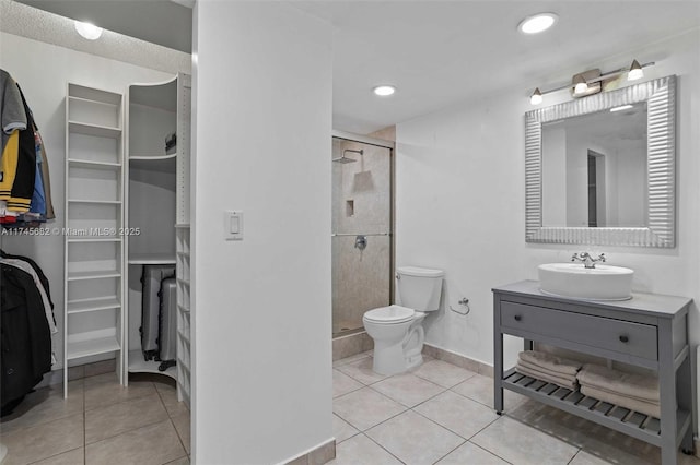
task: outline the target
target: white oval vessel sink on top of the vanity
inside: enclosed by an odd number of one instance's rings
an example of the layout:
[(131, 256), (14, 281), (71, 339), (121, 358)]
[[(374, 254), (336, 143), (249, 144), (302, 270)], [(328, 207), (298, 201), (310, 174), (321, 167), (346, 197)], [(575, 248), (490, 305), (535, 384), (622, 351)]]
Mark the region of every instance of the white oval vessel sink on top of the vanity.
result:
[(582, 263), (547, 263), (537, 267), (542, 293), (587, 300), (627, 300), (632, 298), (634, 271), (622, 266)]

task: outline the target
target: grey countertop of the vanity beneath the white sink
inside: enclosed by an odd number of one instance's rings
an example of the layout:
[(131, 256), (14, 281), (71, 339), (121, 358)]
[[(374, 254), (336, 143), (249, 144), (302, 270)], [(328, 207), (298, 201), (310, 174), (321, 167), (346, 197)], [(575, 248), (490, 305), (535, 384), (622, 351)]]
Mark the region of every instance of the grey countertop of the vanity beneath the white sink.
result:
[(688, 305), (692, 301), (689, 297), (645, 293), (632, 293), (631, 299), (620, 301), (583, 300), (545, 294), (539, 289), (539, 282), (534, 279), (520, 281), (517, 283), (498, 286), (492, 290), (504, 295), (510, 294), (514, 296), (535, 297), (557, 302), (570, 302), (576, 306), (652, 314), (661, 318), (673, 318), (679, 312), (687, 311)]

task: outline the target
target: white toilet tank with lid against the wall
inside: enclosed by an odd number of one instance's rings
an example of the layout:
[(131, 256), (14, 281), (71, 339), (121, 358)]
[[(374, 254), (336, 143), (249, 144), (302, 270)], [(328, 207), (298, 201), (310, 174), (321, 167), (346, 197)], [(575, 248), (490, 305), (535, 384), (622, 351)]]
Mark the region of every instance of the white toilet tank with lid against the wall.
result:
[(440, 307), (442, 270), (399, 266), (396, 283), (401, 306), (417, 311), (435, 311)]

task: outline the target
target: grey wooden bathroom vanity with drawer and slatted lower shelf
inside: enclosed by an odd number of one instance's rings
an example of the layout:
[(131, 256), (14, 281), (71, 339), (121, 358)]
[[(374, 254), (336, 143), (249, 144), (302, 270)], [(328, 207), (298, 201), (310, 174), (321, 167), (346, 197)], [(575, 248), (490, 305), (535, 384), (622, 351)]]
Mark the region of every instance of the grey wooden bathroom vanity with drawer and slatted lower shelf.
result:
[[(691, 369), (686, 297), (637, 294), (623, 301), (587, 301), (546, 295), (539, 282), (493, 290), (494, 408), (503, 412), (508, 389), (547, 405), (657, 445), (662, 464), (676, 465), (678, 449), (692, 450)], [(503, 370), (503, 335), (604, 357), (658, 373), (661, 418), (616, 406)]]

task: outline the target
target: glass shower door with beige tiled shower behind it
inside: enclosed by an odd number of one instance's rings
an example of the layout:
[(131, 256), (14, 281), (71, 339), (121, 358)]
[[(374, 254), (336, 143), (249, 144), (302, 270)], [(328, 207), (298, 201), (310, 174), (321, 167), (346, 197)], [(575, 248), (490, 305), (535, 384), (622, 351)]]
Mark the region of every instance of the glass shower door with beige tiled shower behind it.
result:
[(392, 298), (392, 150), (332, 139), (332, 333)]

